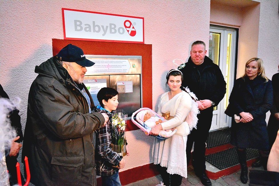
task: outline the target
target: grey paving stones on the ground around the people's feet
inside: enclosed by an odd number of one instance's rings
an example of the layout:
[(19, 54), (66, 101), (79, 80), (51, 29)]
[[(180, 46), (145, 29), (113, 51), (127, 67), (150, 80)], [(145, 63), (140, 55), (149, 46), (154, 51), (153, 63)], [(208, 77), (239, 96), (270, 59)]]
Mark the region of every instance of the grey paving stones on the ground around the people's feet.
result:
[[(260, 168), (252, 168), (252, 167), (248, 167), (248, 170), (250, 169), (257, 169), (257, 170), (263, 170), (262, 167)], [(147, 179), (143, 179), (143, 180), (140, 180), (140, 181), (137, 181), (137, 182), (134, 182), (134, 183), (130, 183), (126, 186), (147, 186), (147, 185), (152, 185), (152, 186), (155, 186), (157, 185), (158, 183), (160, 183), (161, 181), (161, 176), (160, 175), (157, 175), (157, 176), (154, 176), (154, 177), (151, 177), (151, 178), (147, 178)], [(213, 186), (226, 186), (226, 185), (248, 185), (249, 183), (249, 179), (248, 179), (248, 183), (247, 184), (243, 184), (241, 183), (240, 181), (240, 171), (236, 172), (236, 173), (233, 173), (233, 174), (230, 174), (230, 175), (227, 175), (227, 176), (224, 176), (224, 177), (221, 177), (217, 180), (211, 180), (212, 182), (212, 185)], [(188, 178), (183, 178), (182, 179), (182, 184), (181, 186), (185, 186), (185, 185), (203, 185), (201, 182), (200, 182), (200, 179), (195, 175), (194, 171), (193, 171), (193, 167), (190, 165), (188, 167)]]

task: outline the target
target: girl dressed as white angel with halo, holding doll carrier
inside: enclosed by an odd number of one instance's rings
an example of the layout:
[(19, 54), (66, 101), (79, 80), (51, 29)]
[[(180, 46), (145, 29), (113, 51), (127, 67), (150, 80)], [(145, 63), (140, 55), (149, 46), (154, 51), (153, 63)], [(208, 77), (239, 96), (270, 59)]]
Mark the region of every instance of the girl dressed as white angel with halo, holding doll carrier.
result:
[(195, 94), (188, 88), (183, 88), (183, 74), (173, 69), (167, 74), (169, 92), (161, 95), (158, 114), (167, 121), (156, 125), (151, 135), (158, 135), (160, 130), (177, 127), (177, 132), (166, 140), (155, 138), (152, 157), (166, 186), (181, 185), (182, 177), (187, 178), (186, 143), (189, 132), (196, 128), (199, 113)]

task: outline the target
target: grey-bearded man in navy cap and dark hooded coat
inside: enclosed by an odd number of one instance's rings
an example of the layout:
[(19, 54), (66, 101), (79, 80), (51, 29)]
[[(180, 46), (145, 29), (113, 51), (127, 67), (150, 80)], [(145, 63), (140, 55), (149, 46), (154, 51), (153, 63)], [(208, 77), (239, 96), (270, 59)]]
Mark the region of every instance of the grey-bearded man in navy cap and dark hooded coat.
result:
[(22, 152), (35, 185), (96, 185), (94, 130), (108, 116), (91, 111), (83, 80), (92, 65), (69, 44), (35, 67), (39, 75), (29, 91)]

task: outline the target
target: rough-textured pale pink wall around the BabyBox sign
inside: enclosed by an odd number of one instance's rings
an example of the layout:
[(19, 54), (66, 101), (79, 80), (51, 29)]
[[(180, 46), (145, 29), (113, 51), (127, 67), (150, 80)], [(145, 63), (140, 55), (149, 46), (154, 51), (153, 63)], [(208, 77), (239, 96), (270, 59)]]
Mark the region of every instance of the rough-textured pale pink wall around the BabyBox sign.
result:
[[(52, 38), (63, 39), (62, 7), (144, 17), (145, 43), (152, 44), (153, 109), (166, 73), (177, 67), (172, 60), (187, 60), (196, 40), (208, 44), (210, 1), (3, 1), (0, 83), (11, 98), (21, 98), (23, 129), (35, 65), (52, 56)], [(151, 163), (153, 138), (139, 130), (127, 137), (131, 155), (124, 170)]]

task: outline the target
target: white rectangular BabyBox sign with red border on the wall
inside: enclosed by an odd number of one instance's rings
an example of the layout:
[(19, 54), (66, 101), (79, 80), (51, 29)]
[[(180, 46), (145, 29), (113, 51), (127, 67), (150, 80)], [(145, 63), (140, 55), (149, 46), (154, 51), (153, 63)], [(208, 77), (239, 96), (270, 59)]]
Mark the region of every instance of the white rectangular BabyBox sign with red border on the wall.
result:
[(143, 17), (62, 8), (64, 39), (144, 43)]

